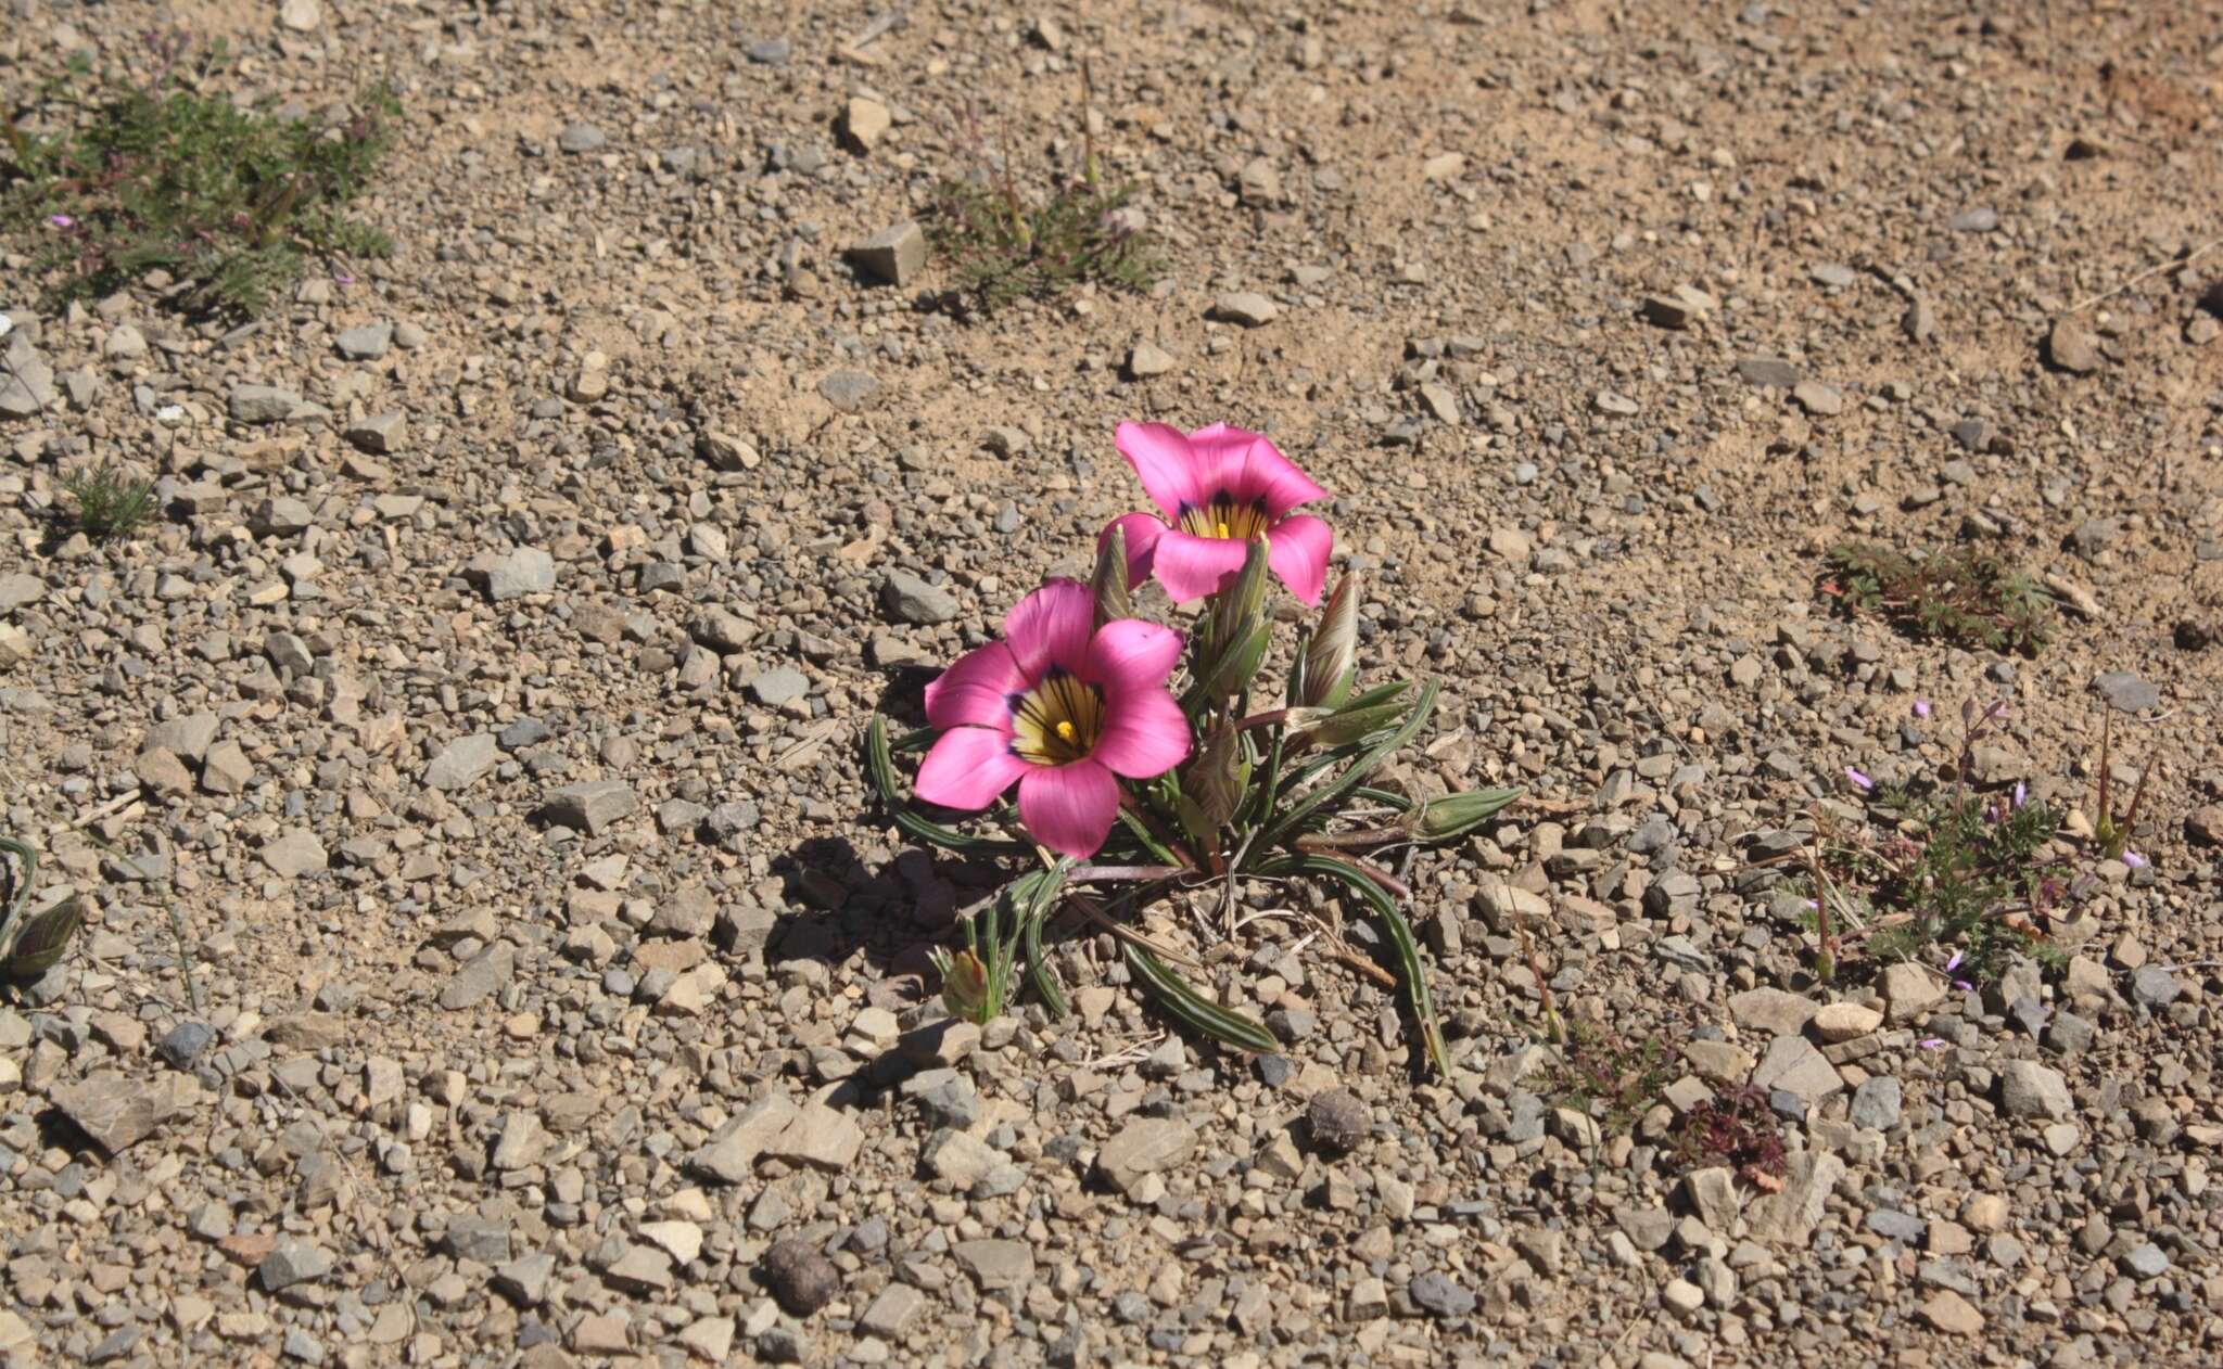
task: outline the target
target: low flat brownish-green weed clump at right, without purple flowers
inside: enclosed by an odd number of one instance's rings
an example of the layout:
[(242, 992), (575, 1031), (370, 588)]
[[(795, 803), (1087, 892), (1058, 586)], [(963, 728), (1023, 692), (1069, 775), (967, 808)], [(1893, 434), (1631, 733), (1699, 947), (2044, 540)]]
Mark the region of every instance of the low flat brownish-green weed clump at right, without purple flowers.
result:
[(1821, 589), (1845, 613), (1878, 613), (1912, 638), (2023, 656), (2045, 644), (2054, 609), (2043, 584), (1976, 547), (1916, 558), (1847, 542), (1830, 551)]

